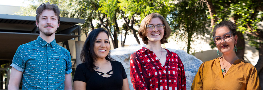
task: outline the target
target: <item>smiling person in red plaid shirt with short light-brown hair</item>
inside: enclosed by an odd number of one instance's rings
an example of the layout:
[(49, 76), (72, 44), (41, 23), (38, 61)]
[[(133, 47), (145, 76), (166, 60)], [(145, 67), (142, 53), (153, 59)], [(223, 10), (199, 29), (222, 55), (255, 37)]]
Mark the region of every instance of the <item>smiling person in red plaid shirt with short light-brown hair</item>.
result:
[(147, 15), (138, 31), (146, 47), (131, 54), (130, 75), (135, 90), (186, 90), (184, 65), (176, 53), (163, 49), (171, 29), (158, 13)]

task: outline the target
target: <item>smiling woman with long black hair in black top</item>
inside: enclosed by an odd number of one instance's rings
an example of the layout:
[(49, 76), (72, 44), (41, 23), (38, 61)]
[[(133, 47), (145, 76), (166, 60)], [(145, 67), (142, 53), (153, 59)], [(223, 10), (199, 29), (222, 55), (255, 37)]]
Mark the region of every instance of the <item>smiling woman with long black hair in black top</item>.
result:
[(110, 57), (108, 31), (98, 28), (90, 32), (81, 51), (73, 83), (74, 90), (129, 90), (122, 63)]

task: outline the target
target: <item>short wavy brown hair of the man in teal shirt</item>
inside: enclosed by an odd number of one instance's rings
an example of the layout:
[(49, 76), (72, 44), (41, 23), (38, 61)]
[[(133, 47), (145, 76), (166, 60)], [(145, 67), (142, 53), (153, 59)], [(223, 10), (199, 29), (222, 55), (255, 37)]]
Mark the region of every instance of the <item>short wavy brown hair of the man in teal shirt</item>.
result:
[(37, 7), (37, 16), (36, 16), (36, 20), (37, 22), (39, 23), (39, 16), (41, 15), (41, 13), (44, 11), (44, 10), (50, 10), (50, 11), (54, 11), (55, 12), (55, 15), (58, 17), (58, 23), (60, 21), (60, 16), (59, 16), (59, 8), (57, 6), (57, 4), (50, 4), (49, 2), (47, 2), (46, 4), (45, 3), (42, 3), (40, 4), (39, 7)]

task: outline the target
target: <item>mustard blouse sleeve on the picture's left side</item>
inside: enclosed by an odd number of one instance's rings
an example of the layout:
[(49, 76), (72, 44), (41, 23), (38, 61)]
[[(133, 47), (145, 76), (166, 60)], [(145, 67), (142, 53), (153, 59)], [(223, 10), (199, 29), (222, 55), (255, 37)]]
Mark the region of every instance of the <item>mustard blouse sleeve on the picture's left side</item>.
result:
[[(205, 63), (205, 62), (204, 62)], [(191, 86), (191, 90), (203, 90), (203, 68), (204, 68), (204, 63), (202, 63), (198, 69), (198, 72), (195, 75), (193, 84)]]

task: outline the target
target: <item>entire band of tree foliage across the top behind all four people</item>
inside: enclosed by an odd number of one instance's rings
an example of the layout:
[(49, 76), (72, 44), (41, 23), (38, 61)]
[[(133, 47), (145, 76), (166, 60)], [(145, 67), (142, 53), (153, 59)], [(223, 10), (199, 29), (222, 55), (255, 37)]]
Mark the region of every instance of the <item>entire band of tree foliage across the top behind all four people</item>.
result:
[[(190, 53), (191, 44), (199, 39), (195, 35), (208, 33), (210, 18), (217, 18), (217, 22), (234, 19), (237, 30), (246, 34), (251, 46), (259, 47), (261, 42), (255, 32), (259, 29), (257, 23), (262, 21), (263, 12), (260, 10), (263, 3), (258, 0), (210, 0), (215, 8), (216, 14), (209, 15), (205, 0), (29, 0), (33, 4), (22, 7), (17, 15), (36, 16), (36, 8), (41, 3), (50, 2), (57, 4), (60, 8), (61, 17), (85, 19), (82, 30), (85, 34), (89, 31), (104, 27), (113, 36), (113, 40), (124, 29), (125, 31), (137, 32), (133, 27), (139, 27), (140, 21), (150, 13), (160, 13), (170, 24), (172, 35), (176, 35), (182, 41), (187, 41), (187, 52)], [(125, 25), (118, 23), (125, 20)], [(213, 26), (214, 27), (214, 26)], [(117, 40), (118, 41), (118, 40)], [(201, 43), (201, 42), (200, 42)], [(211, 40), (211, 48), (215, 47)], [(192, 49), (191, 53), (195, 53)]]

